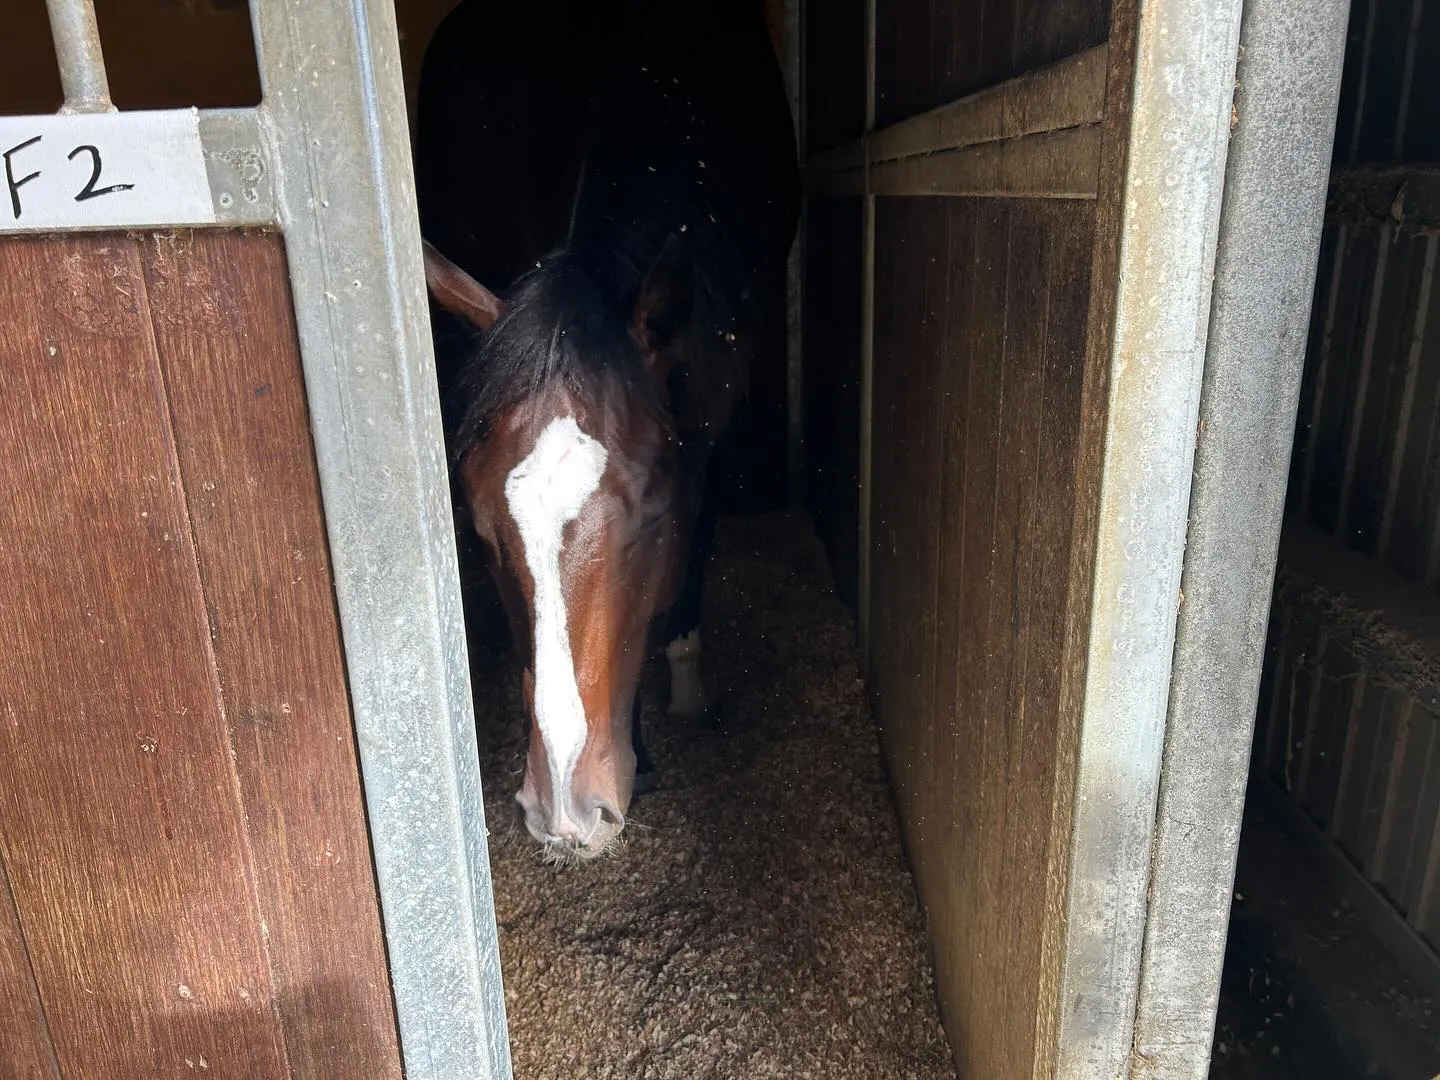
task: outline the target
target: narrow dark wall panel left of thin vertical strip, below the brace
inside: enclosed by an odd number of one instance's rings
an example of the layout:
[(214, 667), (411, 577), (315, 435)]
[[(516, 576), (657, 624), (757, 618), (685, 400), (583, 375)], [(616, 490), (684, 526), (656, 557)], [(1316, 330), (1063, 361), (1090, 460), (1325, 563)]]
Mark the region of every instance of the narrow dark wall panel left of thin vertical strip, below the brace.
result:
[(835, 588), (854, 611), (860, 588), (858, 197), (812, 196), (805, 210), (806, 498)]

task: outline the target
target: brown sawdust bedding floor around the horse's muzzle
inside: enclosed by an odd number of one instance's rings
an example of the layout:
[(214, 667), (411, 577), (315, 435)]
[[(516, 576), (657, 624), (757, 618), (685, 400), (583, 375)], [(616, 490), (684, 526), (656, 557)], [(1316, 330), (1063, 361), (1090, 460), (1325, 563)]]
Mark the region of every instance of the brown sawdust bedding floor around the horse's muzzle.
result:
[(851, 622), (802, 518), (721, 521), (704, 635), (720, 730), (668, 721), (647, 672), (661, 786), (579, 867), (516, 822), (517, 681), (475, 649), (516, 1077), (953, 1077)]

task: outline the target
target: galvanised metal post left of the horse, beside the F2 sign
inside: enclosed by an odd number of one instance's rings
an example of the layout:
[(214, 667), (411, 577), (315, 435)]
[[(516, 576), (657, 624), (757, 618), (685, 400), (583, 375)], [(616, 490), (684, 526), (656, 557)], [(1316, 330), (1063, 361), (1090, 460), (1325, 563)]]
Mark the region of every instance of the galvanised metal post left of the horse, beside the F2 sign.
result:
[(252, 0), (409, 1080), (508, 1080), (392, 0)]

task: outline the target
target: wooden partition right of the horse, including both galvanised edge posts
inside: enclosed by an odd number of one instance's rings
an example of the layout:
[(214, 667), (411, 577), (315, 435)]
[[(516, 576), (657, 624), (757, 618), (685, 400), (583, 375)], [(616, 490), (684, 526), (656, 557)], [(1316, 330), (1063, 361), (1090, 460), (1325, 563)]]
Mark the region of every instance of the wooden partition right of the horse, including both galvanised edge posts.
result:
[(806, 7), (811, 500), (963, 1077), (1207, 1071), (1345, 22), (1297, 3)]

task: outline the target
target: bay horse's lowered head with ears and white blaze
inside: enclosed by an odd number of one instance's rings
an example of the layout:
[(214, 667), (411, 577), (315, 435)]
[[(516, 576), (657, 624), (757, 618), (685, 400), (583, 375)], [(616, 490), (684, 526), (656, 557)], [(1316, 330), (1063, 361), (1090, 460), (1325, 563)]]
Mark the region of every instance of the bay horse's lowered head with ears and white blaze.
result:
[(455, 455), (524, 662), (526, 828), (605, 851), (635, 785), (632, 708), (651, 624), (684, 572), (667, 392), (693, 281), (671, 238), (626, 310), (557, 255), (501, 301), (425, 246), (436, 301), (478, 331)]

